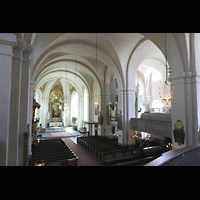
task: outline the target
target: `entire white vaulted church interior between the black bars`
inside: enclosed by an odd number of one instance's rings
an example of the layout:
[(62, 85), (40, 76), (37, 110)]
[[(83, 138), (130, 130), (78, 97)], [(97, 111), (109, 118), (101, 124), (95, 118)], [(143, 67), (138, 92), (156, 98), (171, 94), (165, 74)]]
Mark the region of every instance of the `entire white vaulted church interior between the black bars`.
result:
[(199, 166), (199, 33), (0, 33), (1, 166)]

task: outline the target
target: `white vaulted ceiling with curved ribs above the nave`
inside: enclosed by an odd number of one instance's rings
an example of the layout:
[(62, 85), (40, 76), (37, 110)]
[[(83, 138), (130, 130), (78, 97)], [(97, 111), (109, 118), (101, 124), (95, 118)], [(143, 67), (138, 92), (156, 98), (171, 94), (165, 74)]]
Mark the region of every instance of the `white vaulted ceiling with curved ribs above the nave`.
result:
[[(184, 35), (168, 35), (169, 57), (175, 56), (170, 52), (173, 47), (176, 60), (182, 60), (183, 54), (187, 54), (179, 49)], [(164, 33), (16, 33), (16, 36), (33, 45), (31, 78), (37, 88), (66, 76), (73, 84), (76, 74), (86, 87), (92, 87), (97, 80), (103, 89), (108, 71), (116, 77), (119, 88), (124, 88), (133, 83), (129, 76), (134, 75), (139, 65), (158, 70), (164, 67)]]

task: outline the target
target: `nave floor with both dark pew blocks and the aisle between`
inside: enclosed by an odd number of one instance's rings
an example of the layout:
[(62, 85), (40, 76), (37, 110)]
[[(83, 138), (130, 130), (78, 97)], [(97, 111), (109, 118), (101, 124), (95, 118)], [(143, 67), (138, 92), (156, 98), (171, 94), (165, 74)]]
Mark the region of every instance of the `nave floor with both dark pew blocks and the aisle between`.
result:
[(66, 130), (68, 132), (60, 131), (60, 135), (51, 137), (46, 137), (45, 133), (38, 134), (32, 144), (28, 165), (142, 166), (169, 150), (148, 140), (138, 140), (136, 145), (120, 145), (116, 136), (88, 136), (72, 128)]

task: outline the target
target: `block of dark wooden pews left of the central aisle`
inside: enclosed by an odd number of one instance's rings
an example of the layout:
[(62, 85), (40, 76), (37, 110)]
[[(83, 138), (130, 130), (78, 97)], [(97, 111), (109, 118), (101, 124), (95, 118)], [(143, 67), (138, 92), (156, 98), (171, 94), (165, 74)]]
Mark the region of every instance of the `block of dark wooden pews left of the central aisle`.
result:
[(78, 166), (78, 157), (61, 139), (39, 140), (32, 144), (28, 166)]

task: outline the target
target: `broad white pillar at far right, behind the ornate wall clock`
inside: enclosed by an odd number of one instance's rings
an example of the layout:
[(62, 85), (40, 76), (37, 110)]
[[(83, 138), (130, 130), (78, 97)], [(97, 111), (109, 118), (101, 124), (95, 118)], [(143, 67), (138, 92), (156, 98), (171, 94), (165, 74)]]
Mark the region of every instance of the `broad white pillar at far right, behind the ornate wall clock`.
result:
[[(182, 148), (199, 143), (200, 129), (200, 34), (190, 33), (188, 40), (188, 63), (186, 72), (172, 77), (174, 98), (172, 100), (172, 130), (177, 120), (181, 120), (185, 131), (184, 145), (174, 142), (173, 148)], [(188, 65), (187, 65), (188, 64)], [(173, 75), (173, 74), (172, 74)], [(173, 134), (173, 133), (172, 133)]]

